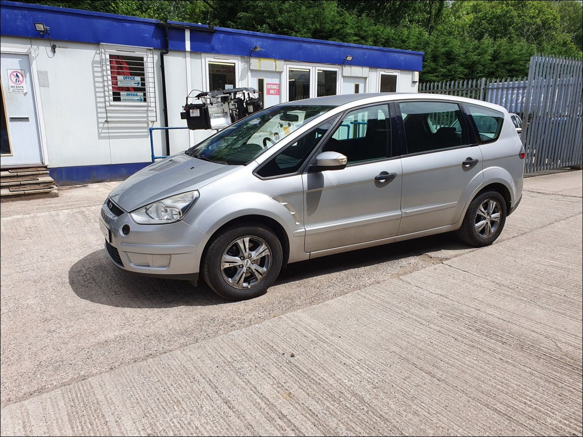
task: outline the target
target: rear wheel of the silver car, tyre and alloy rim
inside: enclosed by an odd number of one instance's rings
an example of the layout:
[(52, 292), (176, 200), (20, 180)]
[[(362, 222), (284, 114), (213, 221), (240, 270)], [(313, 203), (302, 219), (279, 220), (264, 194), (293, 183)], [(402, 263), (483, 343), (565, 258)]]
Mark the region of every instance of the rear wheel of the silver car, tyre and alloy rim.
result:
[(500, 236), (505, 222), (504, 197), (498, 191), (487, 191), (472, 200), (456, 234), (470, 246), (490, 246)]

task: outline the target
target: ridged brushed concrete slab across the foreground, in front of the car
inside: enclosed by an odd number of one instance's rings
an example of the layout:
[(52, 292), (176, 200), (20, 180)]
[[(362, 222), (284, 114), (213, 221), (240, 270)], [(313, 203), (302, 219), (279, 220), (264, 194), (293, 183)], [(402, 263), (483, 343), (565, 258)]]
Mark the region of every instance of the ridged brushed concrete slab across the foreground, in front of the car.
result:
[(2, 432), (581, 435), (578, 221), (12, 404)]

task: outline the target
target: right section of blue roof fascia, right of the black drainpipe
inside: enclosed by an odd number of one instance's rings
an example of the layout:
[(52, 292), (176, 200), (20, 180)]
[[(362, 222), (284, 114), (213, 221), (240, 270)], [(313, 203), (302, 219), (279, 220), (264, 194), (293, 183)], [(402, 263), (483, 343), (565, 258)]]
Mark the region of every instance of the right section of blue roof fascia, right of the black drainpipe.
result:
[[(208, 26), (202, 24), (168, 23), (192, 27), (190, 33), (191, 51), (195, 52), (249, 56), (251, 48), (258, 45), (261, 47), (261, 51), (253, 54), (258, 58), (335, 65), (346, 63), (346, 65), (410, 71), (422, 71), (423, 69), (423, 52), (312, 40), (224, 27), (215, 27), (213, 33), (209, 33), (208, 31), (196, 31), (197, 29), (209, 29)], [(347, 55), (353, 56), (352, 61), (344, 61)]]

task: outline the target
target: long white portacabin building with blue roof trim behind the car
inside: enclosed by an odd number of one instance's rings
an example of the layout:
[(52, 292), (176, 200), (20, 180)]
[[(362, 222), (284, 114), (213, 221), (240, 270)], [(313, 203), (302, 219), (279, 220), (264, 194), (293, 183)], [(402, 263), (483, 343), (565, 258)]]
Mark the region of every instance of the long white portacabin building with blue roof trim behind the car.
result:
[[(185, 127), (192, 90), (253, 87), (265, 107), (416, 92), (423, 66), (423, 52), (10, 1), (0, 20), (2, 174), (37, 168), (57, 185), (120, 180), (149, 165), (150, 127)], [(153, 130), (154, 154), (212, 133)]]

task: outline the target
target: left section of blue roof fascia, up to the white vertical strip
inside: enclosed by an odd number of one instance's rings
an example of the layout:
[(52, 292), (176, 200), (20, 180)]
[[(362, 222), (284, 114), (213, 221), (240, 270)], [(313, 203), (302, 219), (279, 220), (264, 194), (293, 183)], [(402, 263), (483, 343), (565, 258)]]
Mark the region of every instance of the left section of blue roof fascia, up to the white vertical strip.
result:
[[(159, 20), (9, 1), (0, 2), (0, 20), (0, 34), (7, 36), (48, 39), (34, 29), (34, 23), (44, 23), (51, 40), (164, 48)], [(184, 51), (184, 30), (170, 29), (168, 43)]]

